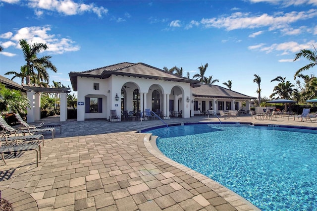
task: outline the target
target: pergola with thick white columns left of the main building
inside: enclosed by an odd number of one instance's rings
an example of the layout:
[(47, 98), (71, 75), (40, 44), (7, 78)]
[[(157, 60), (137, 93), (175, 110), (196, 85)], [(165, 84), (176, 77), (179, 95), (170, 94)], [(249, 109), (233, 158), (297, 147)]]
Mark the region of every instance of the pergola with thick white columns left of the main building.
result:
[(70, 93), (70, 88), (51, 88), (31, 84), (22, 84), (22, 87), (27, 90), (27, 98), (30, 101), (30, 107), (27, 108), (27, 122), (41, 120), (41, 93), (59, 93), (60, 94), (60, 121), (67, 119), (67, 94)]

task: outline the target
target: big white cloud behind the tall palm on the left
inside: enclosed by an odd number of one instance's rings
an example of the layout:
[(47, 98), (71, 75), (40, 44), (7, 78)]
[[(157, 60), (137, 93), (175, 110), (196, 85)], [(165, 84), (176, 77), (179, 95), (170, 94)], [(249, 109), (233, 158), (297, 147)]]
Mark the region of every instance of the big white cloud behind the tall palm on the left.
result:
[[(50, 26), (24, 27), (17, 30), (16, 34), (7, 36), (7, 39), (10, 39), (10, 40), (6, 42), (2, 42), (1, 45), (3, 45), (3, 48), (8, 48), (11, 46), (20, 48), (19, 41), (21, 39), (25, 39), (29, 44), (44, 43), (49, 47), (47, 51), (51, 53), (55, 53), (55, 54), (62, 54), (65, 52), (80, 50), (80, 47), (76, 45), (75, 42), (72, 41), (71, 39), (59, 38), (59, 35), (50, 34), (50, 31), (51, 31)], [(6, 53), (4, 55), (9, 56), (9, 53)]]

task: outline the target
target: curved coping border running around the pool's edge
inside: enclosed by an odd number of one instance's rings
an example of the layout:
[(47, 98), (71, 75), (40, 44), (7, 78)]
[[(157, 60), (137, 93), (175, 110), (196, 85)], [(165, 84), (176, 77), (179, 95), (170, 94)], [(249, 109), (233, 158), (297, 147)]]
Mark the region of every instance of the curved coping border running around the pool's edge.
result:
[[(317, 127), (306, 127), (306, 126), (293, 126), (293, 125), (278, 125), (278, 124), (262, 124), (262, 123), (252, 123), (252, 122), (187, 122), (187, 123), (175, 123), (175, 124), (169, 124), (167, 125), (168, 127), (170, 126), (183, 126), (183, 125), (193, 125), (193, 124), (235, 124), (235, 125), (253, 125), (253, 126), (265, 126), (265, 127), (281, 127), (281, 128), (298, 128), (298, 129), (309, 129), (309, 130), (317, 130)], [(160, 126), (155, 126), (152, 128), (146, 128), (141, 131), (140, 133), (146, 133), (147, 131), (158, 129), (158, 128), (164, 128), (166, 125), (160, 125)], [(229, 204), (231, 204), (235, 209), (241, 210), (241, 206), (243, 206), (244, 210), (256, 210), (256, 211), (261, 211), (258, 207), (253, 205), (251, 202), (249, 202), (247, 199), (243, 198), (239, 194), (235, 193), (234, 191), (228, 189), (227, 187), (221, 185), (220, 183), (212, 180), (211, 178), (183, 165), (180, 164), (170, 158), (167, 158), (162, 154), (162, 152), (159, 151), (159, 148), (156, 146), (156, 139), (158, 136), (154, 136), (151, 133), (150, 136), (145, 136), (143, 139), (144, 145), (146, 149), (151, 153), (153, 156), (156, 158), (159, 158), (160, 160), (188, 173), (195, 179), (199, 180), (211, 190), (213, 190), (215, 193), (219, 194), (225, 201), (227, 201)], [(235, 206), (237, 200), (240, 200), (241, 204), (239, 206)], [(235, 202), (235, 203), (232, 203)]]

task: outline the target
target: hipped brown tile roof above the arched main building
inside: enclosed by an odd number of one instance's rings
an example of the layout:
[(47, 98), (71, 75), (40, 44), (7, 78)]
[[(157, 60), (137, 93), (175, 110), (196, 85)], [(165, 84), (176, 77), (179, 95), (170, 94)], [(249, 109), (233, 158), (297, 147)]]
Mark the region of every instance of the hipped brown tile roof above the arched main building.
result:
[(188, 79), (186, 77), (178, 76), (166, 72), (157, 67), (139, 62), (130, 63), (122, 62), (118, 64), (113, 64), (105, 67), (100, 67), (92, 70), (87, 70), (83, 72), (70, 72), (69, 77), (72, 83), (73, 90), (77, 90), (77, 76), (87, 76), (87, 77), (98, 77), (98, 78), (108, 78), (111, 75), (126, 75), (142, 78), (151, 78), (165, 81), (178, 81), (194, 84), (197, 80)]

